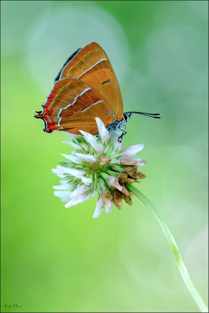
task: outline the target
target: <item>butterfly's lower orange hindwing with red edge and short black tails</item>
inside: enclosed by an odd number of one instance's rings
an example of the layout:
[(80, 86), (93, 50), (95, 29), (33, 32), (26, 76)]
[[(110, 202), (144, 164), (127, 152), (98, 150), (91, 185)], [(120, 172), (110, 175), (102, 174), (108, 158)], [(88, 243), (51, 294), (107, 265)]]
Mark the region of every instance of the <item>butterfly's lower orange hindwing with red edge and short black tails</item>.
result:
[(65, 77), (54, 84), (42, 113), (34, 116), (43, 120), (46, 132), (62, 130), (80, 134), (79, 129), (84, 129), (97, 134), (95, 116), (105, 119), (108, 125), (113, 115), (104, 96), (87, 82)]

